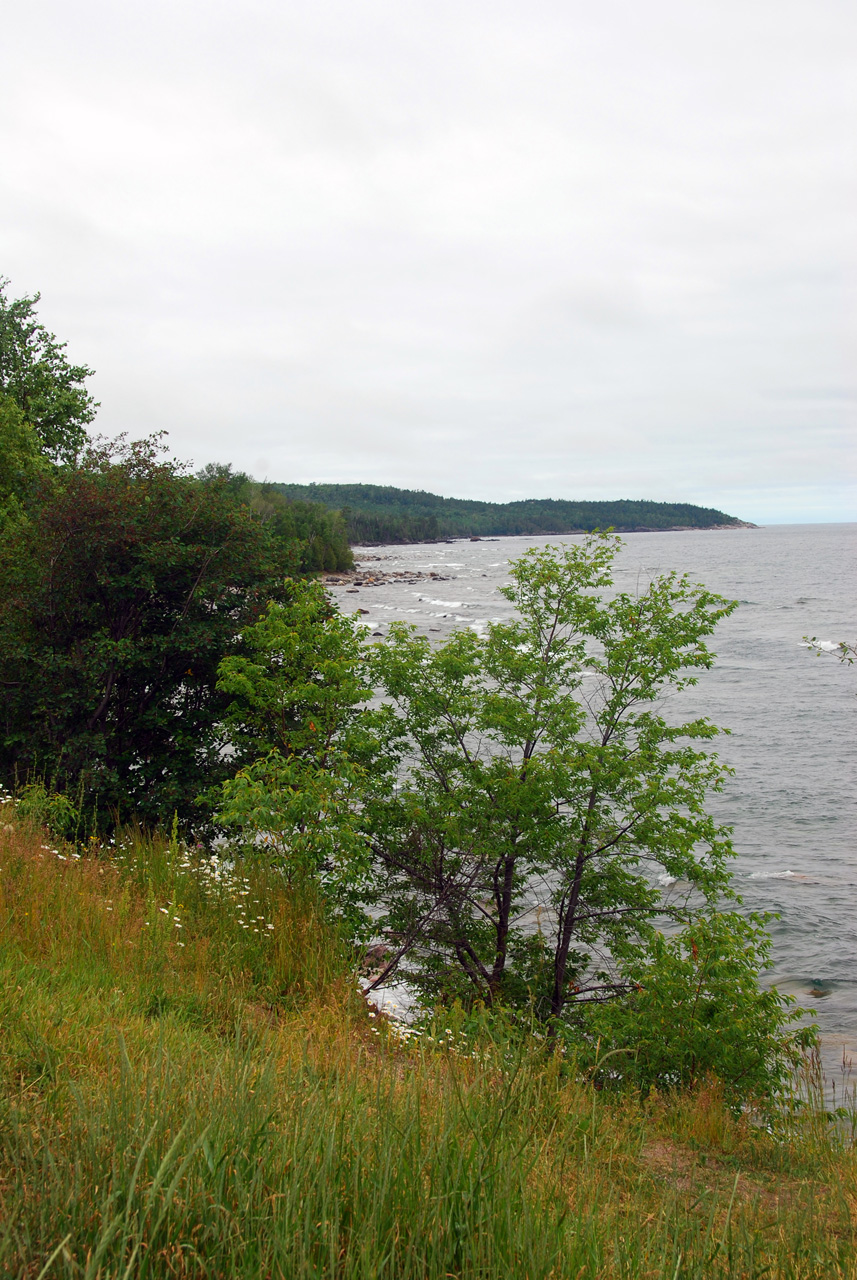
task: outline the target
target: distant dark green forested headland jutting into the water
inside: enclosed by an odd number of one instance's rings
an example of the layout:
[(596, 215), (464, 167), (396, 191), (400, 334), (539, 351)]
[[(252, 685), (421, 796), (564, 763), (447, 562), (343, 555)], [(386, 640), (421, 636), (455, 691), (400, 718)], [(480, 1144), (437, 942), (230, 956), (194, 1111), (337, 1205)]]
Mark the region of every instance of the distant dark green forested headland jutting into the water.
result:
[(317, 503), (342, 512), (352, 545), (515, 534), (576, 534), (595, 529), (615, 529), (625, 534), (666, 529), (746, 527), (735, 516), (688, 502), (576, 502), (556, 498), (478, 502), (441, 498), (423, 489), (397, 489), (376, 484), (271, 484), (267, 488), (292, 502)]

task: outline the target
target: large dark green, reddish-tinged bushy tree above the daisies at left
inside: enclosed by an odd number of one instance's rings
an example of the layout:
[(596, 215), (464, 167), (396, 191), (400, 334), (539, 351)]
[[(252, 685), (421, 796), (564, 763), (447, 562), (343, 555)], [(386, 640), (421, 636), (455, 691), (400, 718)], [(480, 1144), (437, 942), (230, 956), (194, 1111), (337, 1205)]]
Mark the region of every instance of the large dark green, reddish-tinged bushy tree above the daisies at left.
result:
[(43, 468), (0, 535), (4, 782), (42, 778), (105, 817), (198, 819), (194, 797), (234, 772), (217, 664), (294, 558), (156, 442)]

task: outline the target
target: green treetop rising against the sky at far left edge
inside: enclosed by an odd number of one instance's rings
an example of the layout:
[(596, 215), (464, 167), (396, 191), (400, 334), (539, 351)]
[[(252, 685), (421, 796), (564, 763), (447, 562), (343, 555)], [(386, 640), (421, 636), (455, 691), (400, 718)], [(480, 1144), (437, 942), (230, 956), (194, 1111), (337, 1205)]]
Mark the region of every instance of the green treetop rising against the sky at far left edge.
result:
[(36, 316), (41, 294), (9, 298), (0, 276), (0, 394), (8, 396), (54, 462), (72, 462), (87, 440), (97, 403), (86, 389), (92, 370), (72, 365)]

